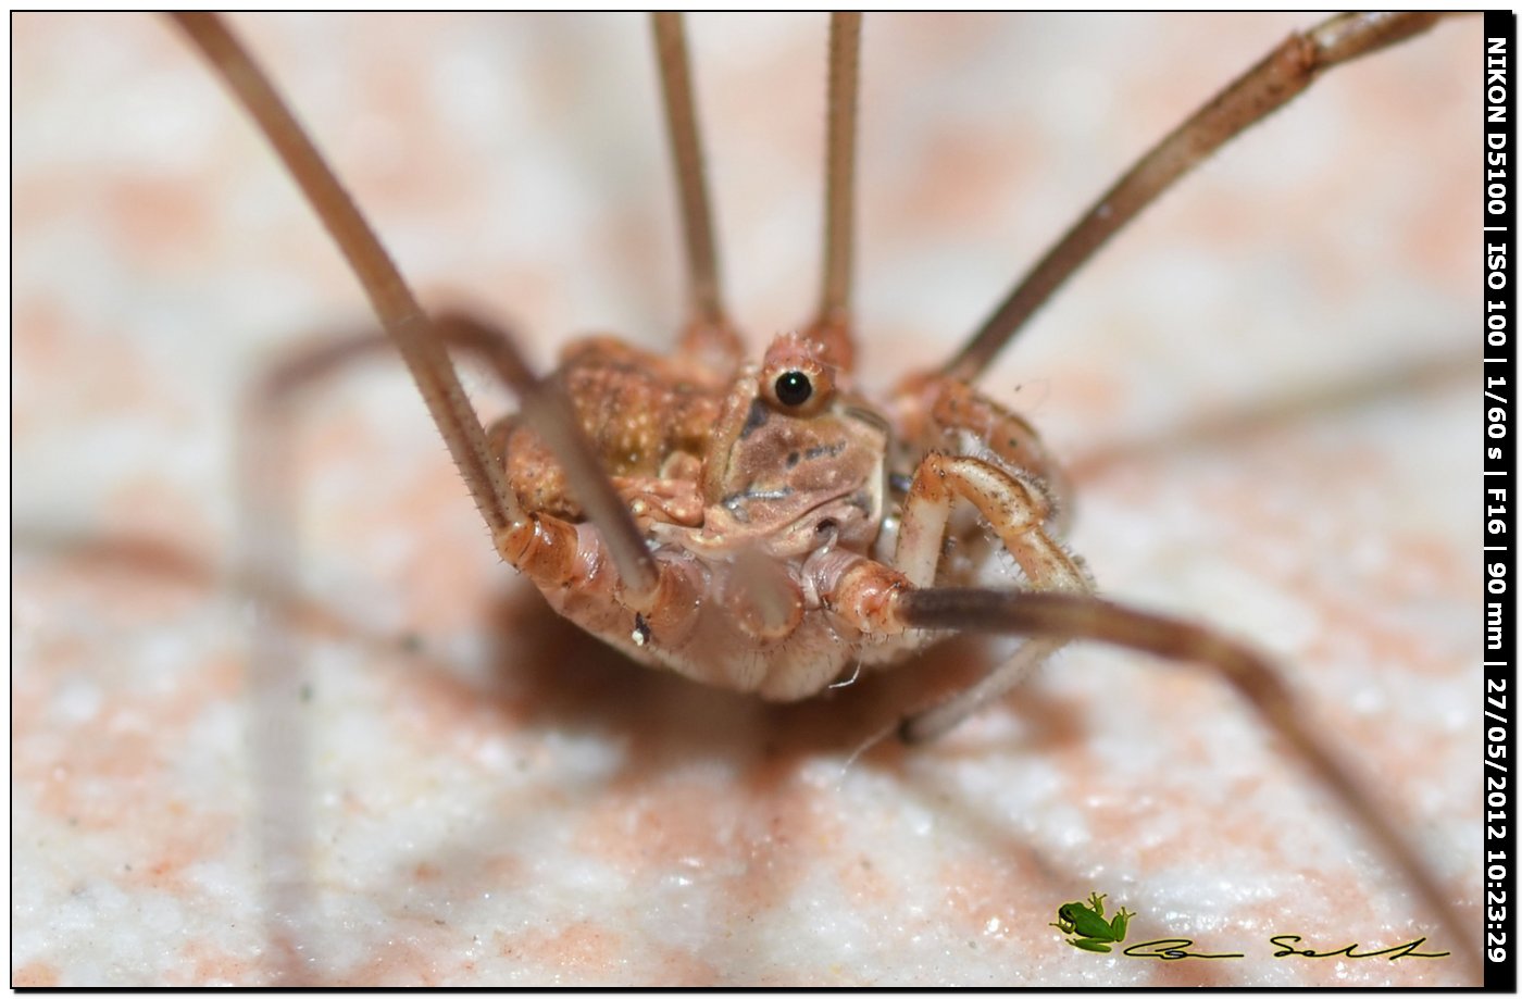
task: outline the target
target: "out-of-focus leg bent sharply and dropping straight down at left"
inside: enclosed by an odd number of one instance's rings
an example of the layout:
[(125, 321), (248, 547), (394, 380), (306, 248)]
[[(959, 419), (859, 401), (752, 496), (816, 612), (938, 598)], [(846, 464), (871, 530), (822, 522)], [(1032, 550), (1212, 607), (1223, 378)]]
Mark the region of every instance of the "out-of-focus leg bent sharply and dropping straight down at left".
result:
[[(569, 481), (629, 589), (653, 598), (659, 574), (633, 516), (597, 464), (575, 414), (552, 381), (539, 381), (502, 329), (464, 315), (443, 315), (435, 334), (451, 347), (484, 359), (522, 402), (524, 419), (566, 464)], [(269, 369), (254, 385), (239, 420), (237, 490), (242, 536), (240, 582), (253, 605), (250, 634), (250, 742), (254, 758), (256, 844), (263, 868), (266, 937), (275, 984), (310, 984), (303, 947), (320, 926), (309, 876), (307, 739), (300, 702), (310, 678), (291, 641), (297, 565), (295, 500), (289, 468), (297, 397), (355, 361), (393, 350), (379, 330), (327, 338)], [(569, 458), (569, 463), (566, 463)], [(632, 582), (629, 582), (632, 580)]]

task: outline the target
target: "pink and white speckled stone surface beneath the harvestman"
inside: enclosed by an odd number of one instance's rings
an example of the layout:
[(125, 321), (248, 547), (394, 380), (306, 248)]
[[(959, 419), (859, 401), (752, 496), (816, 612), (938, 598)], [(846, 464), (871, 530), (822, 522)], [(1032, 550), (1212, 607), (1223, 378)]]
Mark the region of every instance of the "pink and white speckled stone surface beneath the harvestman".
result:
[[(1313, 20), (871, 20), (863, 381), (939, 361), (1129, 158)], [(641, 21), (236, 24), (429, 302), (511, 321), (543, 362), (592, 330), (670, 340)], [(234, 414), (364, 302), (164, 24), (12, 26), (12, 982), (268, 982)], [(1274, 652), (1476, 937), (1479, 27), (1324, 78), (983, 381), (1068, 463), (1103, 591)], [(761, 344), (816, 294), (825, 23), (699, 18), (691, 41)], [(848, 766), (977, 644), (793, 707), (632, 667), (496, 563), (399, 365), (301, 414), (310, 699), (288, 723), (310, 754), (272, 816), (309, 856), (300, 978), (1464, 981), (1271, 956), (1274, 934), (1373, 949), (1437, 924), (1213, 682), (1073, 649), (944, 742)], [(1129, 940), (1247, 956), (1079, 952), (1049, 923), (1090, 891), (1137, 914)]]

